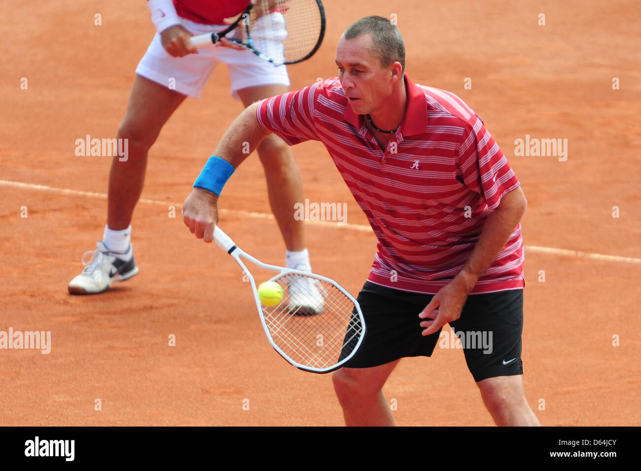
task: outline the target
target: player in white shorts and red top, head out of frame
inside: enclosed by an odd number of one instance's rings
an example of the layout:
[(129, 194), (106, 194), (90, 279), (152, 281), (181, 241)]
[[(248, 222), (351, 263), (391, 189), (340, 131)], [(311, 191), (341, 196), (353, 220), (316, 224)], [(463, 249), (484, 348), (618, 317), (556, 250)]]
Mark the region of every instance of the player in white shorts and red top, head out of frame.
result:
[[(131, 246), (131, 217), (140, 198), (147, 167), (147, 153), (160, 130), (187, 96), (198, 98), (215, 67), (228, 65), (231, 94), (247, 106), (258, 99), (287, 92), (287, 67), (275, 67), (250, 51), (210, 46), (195, 49), (192, 35), (226, 28), (224, 19), (241, 13), (249, 0), (150, 0), (151, 19), (156, 26), (147, 52), (136, 69), (127, 112), (118, 129), (118, 139), (128, 139), (126, 161), (113, 158), (109, 176), (107, 225), (103, 240), (83, 272), (69, 283), (73, 294), (106, 291), (115, 281), (138, 273)], [(231, 46), (224, 40), (224, 44)], [(311, 271), (305, 248), (303, 221), (290, 210), (303, 201), (303, 184), (285, 142), (271, 135), (258, 146), (265, 169), (269, 202), (285, 240), (288, 268)], [(319, 305), (320, 293), (306, 278), (293, 286), (301, 309)], [(320, 302), (322, 304), (322, 302)]]

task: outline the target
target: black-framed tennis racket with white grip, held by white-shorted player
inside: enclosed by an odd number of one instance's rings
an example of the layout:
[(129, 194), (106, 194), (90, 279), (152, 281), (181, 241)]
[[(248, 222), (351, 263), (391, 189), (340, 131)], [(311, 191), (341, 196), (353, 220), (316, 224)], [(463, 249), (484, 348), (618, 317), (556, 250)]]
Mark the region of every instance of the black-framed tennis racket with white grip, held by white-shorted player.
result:
[(319, 49), (325, 35), (325, 10), (319, 0), (254, 0), (228, 28), (193, 36), (191, 42), (196, 47), (216, 44), (239, 24), (244, 39), (228, 37), (229, 41), (274, 65), (296, 64)]

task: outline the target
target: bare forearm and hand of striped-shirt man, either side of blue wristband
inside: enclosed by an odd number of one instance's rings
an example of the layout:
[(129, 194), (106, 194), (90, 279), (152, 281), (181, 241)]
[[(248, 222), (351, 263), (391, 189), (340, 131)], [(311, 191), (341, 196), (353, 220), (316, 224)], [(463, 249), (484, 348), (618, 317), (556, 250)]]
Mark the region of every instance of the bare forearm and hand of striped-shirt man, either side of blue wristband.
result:
[[(254, 103), (238, 116), (222, 136), (215, 155), (237, 168), (270, 132), (258, 123), (258, 103)], [(249, 146), (249, 153), (247, 153)], [(183, 203), (183, 221), (192, 234), (206, 243), (213, 241), (213, 228), (218, 223), (218, 195), (194, 187)]]

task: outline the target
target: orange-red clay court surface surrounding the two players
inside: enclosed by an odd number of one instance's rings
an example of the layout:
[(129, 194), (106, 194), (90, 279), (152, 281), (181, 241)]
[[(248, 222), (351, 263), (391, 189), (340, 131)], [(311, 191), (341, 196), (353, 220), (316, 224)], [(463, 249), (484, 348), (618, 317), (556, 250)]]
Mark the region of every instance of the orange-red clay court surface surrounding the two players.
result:
[[(524, 384), (540, 422), (641, 425), (638, 3), (324, 4), (326, 39), (290, 66), (292, 89), (335, 76), (349, 24), (395, 15), (410, 78), (467, 101), (519, 177)], [(76, 156), (75, 141), (115, 137), (153, 25), (143, 1), (124, 0), (22, 1), (1, 22), (0, 330), (49, 330), (51, 353), (0, 350), (0, 425), (342, 425), (330, 375), (301, 372), (272, 350), (238, 266), (182, 222), (181, 203), (242, 109), (226, 67), (150, 152), (132, 223), (140, 273), (103, 295), (72, 296), (67, 283), (103, 234), (111, 163)], [(567, 160), (515, 155), (526, 135), (567, 139)], [(374, 235), (323, 146), (292, 150), (306, 198), (347, 203), (347, 225), (310, 221), (307, 238), (314, 270), (356, 295)], [(220, 224), (247, 252), (281, 264), (266, 194), (254, 154), (226, 185)], [(494, 424), (456, 348), (404, 359), (384, 393), (398, 425)]]

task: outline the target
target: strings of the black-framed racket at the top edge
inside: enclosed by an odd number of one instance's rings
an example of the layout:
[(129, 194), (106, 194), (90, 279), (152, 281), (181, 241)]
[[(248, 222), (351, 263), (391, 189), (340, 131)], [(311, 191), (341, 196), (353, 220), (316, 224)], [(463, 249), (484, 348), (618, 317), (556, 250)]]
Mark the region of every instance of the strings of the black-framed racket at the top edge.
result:
[(322, 17), (315, 0), (254, 1), (249, 13), (252, 46), (276, 62), (296, 62), (321, 39)]

